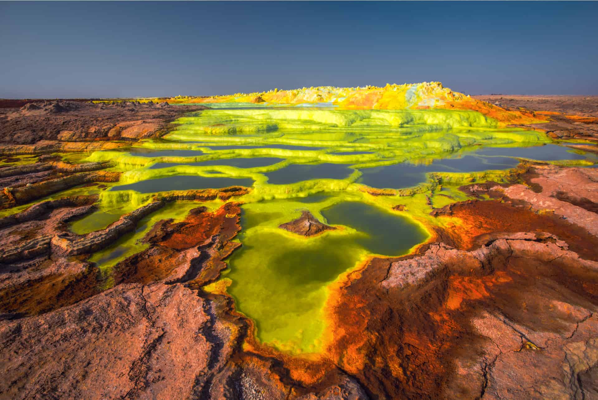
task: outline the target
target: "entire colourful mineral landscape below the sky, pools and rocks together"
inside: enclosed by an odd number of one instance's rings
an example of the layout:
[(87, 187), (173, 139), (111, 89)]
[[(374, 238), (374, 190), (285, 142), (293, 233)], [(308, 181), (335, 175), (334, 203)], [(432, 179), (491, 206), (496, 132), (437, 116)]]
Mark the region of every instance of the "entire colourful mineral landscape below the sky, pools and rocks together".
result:
[(437, 84), (258, 97), (0, 149), (2, 395), (594, 393), (588, 142)]

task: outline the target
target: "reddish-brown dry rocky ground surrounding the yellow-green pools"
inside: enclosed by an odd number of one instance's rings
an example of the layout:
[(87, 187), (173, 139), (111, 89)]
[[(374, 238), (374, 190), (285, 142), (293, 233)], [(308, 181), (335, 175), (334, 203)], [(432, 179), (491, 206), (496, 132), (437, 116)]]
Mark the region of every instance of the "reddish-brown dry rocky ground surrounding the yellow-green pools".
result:
[[(0, 169), (0, 206), (118, 180), (105, 164), (49, 154), (160, 136), (181, 110), (2, 109), (2, 157), (36, 162)], [(596, 140), (592, 121), (572, 136)], [(433, 212), (460, 224), (437, 228), (415, 254), (371, 259), (339, 282), (327, 308), (332, 337), (315, 359), (252, 343), (252, 322), (233, 301), (202, 291), (239, 246), (234, 198), (245, 188), (156, 198), (86, 235), (67, 222), (89, 213), (94, 196), (2, 218), (0, 397), (598, 398), (598, 169), (519, 170), (513, 184), (462, 187), (472, 200)], [(230, 201), (200, 206), (215, 197)], [(114, 286), (103, 290), (89, 254), (181, 199), (198, 207), (182, 222), (155, 224), (148, 248), (117, 264)], [(311, 215), (285, 225), (303, 234), (328, 228)]]

